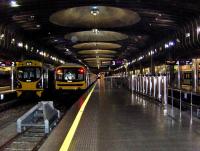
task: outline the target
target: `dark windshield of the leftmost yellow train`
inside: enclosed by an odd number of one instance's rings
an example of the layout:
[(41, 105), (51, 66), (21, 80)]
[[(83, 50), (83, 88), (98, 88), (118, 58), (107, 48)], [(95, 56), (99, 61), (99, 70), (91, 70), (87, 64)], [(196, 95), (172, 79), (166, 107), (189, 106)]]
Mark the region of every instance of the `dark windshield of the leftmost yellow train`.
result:
[(23, 82), (35, 82), (41, 78), (41, 67), (18, 67), (17, 78)]

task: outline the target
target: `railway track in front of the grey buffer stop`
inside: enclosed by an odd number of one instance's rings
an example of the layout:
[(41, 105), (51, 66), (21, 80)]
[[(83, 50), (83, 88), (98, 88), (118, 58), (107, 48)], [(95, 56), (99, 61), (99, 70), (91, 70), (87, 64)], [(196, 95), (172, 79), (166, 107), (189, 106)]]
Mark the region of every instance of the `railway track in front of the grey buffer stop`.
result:
[(19, 133), (0, 146), (1, 151), (36, 151), (46, 139), (44, 129), (29, 128)]

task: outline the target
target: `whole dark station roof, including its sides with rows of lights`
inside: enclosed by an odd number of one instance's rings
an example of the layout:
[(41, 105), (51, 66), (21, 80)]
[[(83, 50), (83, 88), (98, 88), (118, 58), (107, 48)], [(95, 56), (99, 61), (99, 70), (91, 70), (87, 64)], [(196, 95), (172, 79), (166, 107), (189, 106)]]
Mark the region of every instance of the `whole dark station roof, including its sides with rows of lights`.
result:
[(148, 56), (156, 61), (194, 57), (199, 55), (199, 14), (198, 0), (3, 0), (0, 45), (8, 49), (5, 57), (13, 53), (5, 44), (10, 41), (50, 60), (94, 69), (108, 69), (103, 61), (137, 65)]

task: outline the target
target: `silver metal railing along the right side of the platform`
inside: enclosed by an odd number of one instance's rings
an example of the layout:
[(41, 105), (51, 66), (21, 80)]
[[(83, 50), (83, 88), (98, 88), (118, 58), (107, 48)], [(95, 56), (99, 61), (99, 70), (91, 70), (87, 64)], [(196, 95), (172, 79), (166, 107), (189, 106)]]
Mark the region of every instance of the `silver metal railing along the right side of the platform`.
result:
[(184, 91), (168, 87), (167, 76), (141, 76), (132, 75), (127, 77), (111, 78), (123, 81), (123, 85), (135, 93), (153, 98), (163, 104), (167, 114), (174, 116), (174, 107), (181, 112), (186, 111), (192, 116), (200, 117), (200, 95), (191, 91)]

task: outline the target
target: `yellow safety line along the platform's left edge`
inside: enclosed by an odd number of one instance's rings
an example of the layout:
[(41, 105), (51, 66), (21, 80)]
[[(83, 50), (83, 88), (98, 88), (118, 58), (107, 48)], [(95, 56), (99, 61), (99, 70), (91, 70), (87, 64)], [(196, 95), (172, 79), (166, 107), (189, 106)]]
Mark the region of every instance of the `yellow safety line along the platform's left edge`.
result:
[(74, 122), (73, 122), (73, 124), (72, 124), (72, 126), (71, 126), (71, 128), (70, 128), (70, 130), (69, 130), (69, 132), (67, 134), (67, 136), (65, 137), (65, 140), (64, 140), (64, 142), (63, 142), (63, 144), (62, 144), (62, 146), (61, 146), (59, 151), (68, 151), (69, 146), (71, 144), (71, 141), (72, 141), (72, 139), (74, 137), (74, 134), (76, 132), (76, 129), (78, 127), (78, 124), (79, 124), (79, 122), (81, 120), (81, 117), (83, 115), (83, 112), (85, 110), (85, 107), (86, 107), (86, 105), (87, 105), (87, 103), (88, 103), (88, 101), (89, 101), (89, 99), (90, 99), (90, 97), (92, 95), (92, 92), (94, 91), (95, 86), (96, 86), (96, 84), (93, 86), (92, 90), (90, 91), (90, 93), (88, 94), (87, 98), (85, 99), (83, 105), (81, 106), (78, 114), (76, 115), (76, 118), (75, 118), (75, 120), (74, 120)]

